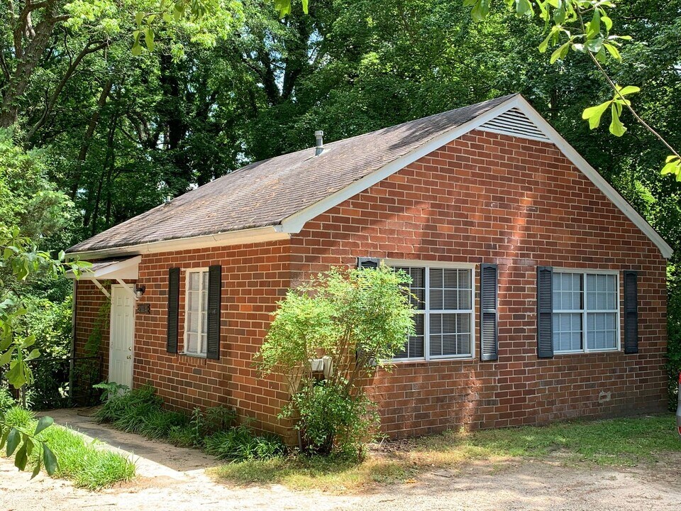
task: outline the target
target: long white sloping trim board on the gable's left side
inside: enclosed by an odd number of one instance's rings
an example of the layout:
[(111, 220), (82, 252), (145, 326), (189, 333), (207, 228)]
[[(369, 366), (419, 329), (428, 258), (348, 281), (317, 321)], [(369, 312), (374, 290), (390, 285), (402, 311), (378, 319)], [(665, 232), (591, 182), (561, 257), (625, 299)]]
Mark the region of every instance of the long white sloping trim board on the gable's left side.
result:
[(363, 192), (365, 189), (375, 185), (377, 182), (384, 180), (386, 177), (394, 174), (398, 170), (406, 167), (407, 165), (414, 163), (416, 160), (423, 158), (434, 150), (441, 148), (443, 145), (447, 145), (451, 141), (465, 135), (469, 131), (480, 127), (487, 121), (494, 119), (494, 117), (499, 114), (503, 114), (506, 110), (509, 110), (515, 106), (515, 98), (510, 98), (504, 101), (502, 104), (495, 106), (493, 109), (477, 116), (475, 119), (468, 121), (467, 123), (457, 126), (450, 131), (446, 131), (439, 136), (431, 139), (425, 144), (419, 146), (416, 149), (411, 150), (406, 155), (397, 158), (397, 160), (392, 160), (392, 162), (384, 165), (378, 170), (371, 172), (369, 175), (362, 177), (360, 180), (353, 182), (352, 185), (338, 190), (338, 192), (329, 195), (328, 197), (322, 199), (315, 204), (312, 204), (305, 209), (301, 209), (296, 213), (288, 216), (282, 220), (282, 230), (287, 233), (299, 233), (303, 226), (314, 219), (315, 216), (319, 216), (325, 211), (328, 211), (332, 207), (338, 206), (341, 202), (350, 199), (354, 195)]

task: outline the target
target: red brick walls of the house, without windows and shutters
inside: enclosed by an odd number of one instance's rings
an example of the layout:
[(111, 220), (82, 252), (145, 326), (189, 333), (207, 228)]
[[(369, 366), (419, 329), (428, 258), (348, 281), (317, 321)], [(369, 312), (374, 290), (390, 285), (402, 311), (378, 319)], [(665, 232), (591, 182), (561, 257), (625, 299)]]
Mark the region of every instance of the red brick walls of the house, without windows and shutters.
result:
[[(253, 353), (289, 285), (330, 265), (354, 266), (358, 256), (499, 265), (499, 361), (399, 363), (377, 374), (370, 391), (393, 436), (664, 407), (665, 260), (658, 249), (553, 145), (482, 132), (321, 214), (290, 242), (144, 255), (140, 303), (151, 313), (135, 319), (135, 385), (152, 383), (172, 407), (226, 404), (256, 427), (286, 432), (276, 415), (287, 388), (258, 380)], [(167, 353), (168, 268), (218, 263), (220, 361)], [(537, 265), (639, 270), (640, 353), (539, 361)], [(78, 295), (79, 343), (102, 300), (93, 290), (85, 285)], [(179, 322), (182, 339), (183, 312)]]

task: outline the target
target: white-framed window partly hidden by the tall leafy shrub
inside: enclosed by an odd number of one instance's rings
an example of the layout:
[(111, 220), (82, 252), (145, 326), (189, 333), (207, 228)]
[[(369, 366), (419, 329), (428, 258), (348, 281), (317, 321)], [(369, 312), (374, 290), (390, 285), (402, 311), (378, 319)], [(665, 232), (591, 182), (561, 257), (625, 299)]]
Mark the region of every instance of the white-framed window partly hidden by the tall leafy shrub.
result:
[(396, 360), (470, 358), (474, 350), (472, 268), (426, 268), (394, 264), (411, 276), (416, 334)]

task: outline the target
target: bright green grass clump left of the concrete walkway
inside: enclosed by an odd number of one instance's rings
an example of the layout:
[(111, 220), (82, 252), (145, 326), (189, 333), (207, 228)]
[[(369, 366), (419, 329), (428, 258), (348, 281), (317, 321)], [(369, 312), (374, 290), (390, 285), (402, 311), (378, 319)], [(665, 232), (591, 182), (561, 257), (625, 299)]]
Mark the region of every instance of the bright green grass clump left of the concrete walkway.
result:
[[(6, 424), (25, 432), (35, 430), (35, 416), (21, 407), (13, 407), (5, 415)], [(54, 424), (39, 434), (55, 456), (59, 469), (56, 477), (73, 480), (79, 488), (99, 490), (135, 477), (135, 463), (121, 454), (96, 448), (96, 440), (87, 443), (80, 434)], [(35, 454), (28, 467), (35, 465)]]

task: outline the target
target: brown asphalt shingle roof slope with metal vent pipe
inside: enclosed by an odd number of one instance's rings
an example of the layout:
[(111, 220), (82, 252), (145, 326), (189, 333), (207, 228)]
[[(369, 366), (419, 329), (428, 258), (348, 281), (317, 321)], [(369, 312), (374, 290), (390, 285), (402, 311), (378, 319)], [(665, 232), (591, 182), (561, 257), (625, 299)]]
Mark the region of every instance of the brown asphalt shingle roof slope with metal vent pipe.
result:
[(124, 221), (68, 252), (140, 245), (281, 223), (512, 96), (252, 163)]

